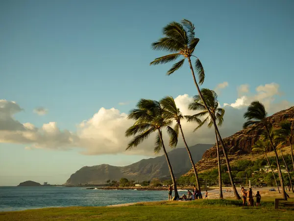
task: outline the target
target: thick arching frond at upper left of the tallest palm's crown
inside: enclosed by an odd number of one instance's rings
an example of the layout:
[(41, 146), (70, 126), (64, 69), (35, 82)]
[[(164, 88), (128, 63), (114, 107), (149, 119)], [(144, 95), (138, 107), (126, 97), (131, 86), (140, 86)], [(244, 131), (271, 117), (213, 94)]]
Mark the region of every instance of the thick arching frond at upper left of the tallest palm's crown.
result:
[(162, 32), (164, 35), (176, 40), (183, 45), (187, 45), (189, 43), (187, 33), (180, 23), (171, 22), (163, 28)]

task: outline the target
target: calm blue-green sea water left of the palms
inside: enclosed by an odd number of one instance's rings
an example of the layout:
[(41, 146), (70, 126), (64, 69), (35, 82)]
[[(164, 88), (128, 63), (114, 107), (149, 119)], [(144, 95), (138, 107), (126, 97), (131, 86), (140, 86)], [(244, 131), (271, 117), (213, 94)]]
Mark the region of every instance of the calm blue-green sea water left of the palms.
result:
[[(187, 191), (179, 190), (179, 194)], [(64, 206), (108, 206), (168, 199), (168, 191), (87, 190), (80, 187), (0, 187), (0, 211)]]

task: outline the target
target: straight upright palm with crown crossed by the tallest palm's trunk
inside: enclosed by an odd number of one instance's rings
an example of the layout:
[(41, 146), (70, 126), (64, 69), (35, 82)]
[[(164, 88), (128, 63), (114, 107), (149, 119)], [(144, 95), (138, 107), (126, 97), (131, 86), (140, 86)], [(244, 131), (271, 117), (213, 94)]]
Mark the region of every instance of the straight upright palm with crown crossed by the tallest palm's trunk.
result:
[[(201, 94), (202, 94), (204, 100), (206, 101), (206, 104), (208, 105), (211, 113), (213, 114), (214, 119), (216, 121), (219, 121), (218, 125), (221, 126), (221, 124), (223, 122), (224, 109), (218, 108), (219, 102), (218, 102), (217, 93), (213, 90), (203, 88), (203, 89), (201, 89)], [(199, 117), (207, 116), (202, 122), (200, 122), (200, 124), (198, 125), (198, 127), (196, 127), (196, 129), (194, 131), (196, 131), (197, 129), (202, 127), (205, 124), (205, 122), (208, 122), (209, 128), (212, 127), (212, 125), (213, 125), (212, 119), (210, 118), (208, 111), (205, 109), (205, 106), (203, 105), (203, 102), (202, 102), (199, 95), (194, 96), (194, 102), (192, 102), (189, 105), (189, 109), (194, 110), (194, 111), (201, 111), (201, 112), (196, 113), (193, 116), (191, 116), (188, 121), (191, 121), (191, 120), (194, 121), (195, 119), (197, 121)], [(215, 136), (216, 136), (218, 168), (219, 168), (220, 198), (222, 199), (223, 195), (222, 195), (222, 182), (221, 182), (221, 159), (220, 159), (218, 134), (217, 134), (216, 130), (215, 130)], [(231, 180), (231, 184), (233, 186), (234, 183), (233, 183), (233, 179), (232, 179), (230, 164), (229, 164), (229, 161), (228, 161), (228, 158), (227, 158), (225, 151), (224, 151), (224, 153), (225, 153), (226, 163), (227, 163), (227, 167), (228, 167), (229, 177)]]

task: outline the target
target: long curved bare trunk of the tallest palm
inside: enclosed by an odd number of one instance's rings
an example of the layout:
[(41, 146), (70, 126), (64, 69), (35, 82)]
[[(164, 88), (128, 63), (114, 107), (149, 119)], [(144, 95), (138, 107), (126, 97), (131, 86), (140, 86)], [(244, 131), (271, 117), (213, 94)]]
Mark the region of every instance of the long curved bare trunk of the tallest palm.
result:
[(231, 172), (231, 167), (230, 167), (229, 159), (228, 159), (228, 156), (227, 156), (227, 154), (226, 154), (226, 150), (225, 150), (225, 147), (224, 147), (224, 143), (223, 143), (223, 141), (222, 141), (221, 134), (220, 134), (220, 131), (219, 131), (219, 129), (218, 129), (217, 123), (216, 123), (216, 121), (215, 121), (215, 119), (214, 119), (214, 117), (213, 117), (211, 111), (209, 110), (209, 108), (208, 108), (208, 106), (207, 106), (205, 100), (203, 99), (203, 96), (202, 96), (202, 94), (201, 94), (200, 88), (199, 88), (198, 83), (197, 83), (196, 78), (195, 78), (194, 69), (193, 69), (193, 66), (192, 66), (192, 63), (191, 63), (191, 58), (188, 57), (188, 60), (189, 60), (190, 69), (191, 69), (191, 72), (192, 72), (193, 80), (194, 80), (194, 83), (195, 83), (195, 85), (196, 85), (196, 88), (197, 88), (198, 94), (199, 94), (199, 96), (200, 96), (200, 98), (201, 98), (201, 100), (202, 100), (202, 102), (203, 102), (203, 104), (204, 104), (206, 110), (208, 111), (208, 113), (209, 113), (209, 115), (210, 115), (210, 117), (211, 117), (211, 119), (212, 119), (213, 125), (214, 125), (214, 127), (215, 127), (215, 130), (216, 130), (216, 132), (217, 132), (217, 135), (218, 135), (219, 138), (220, 138), (221, 147), (222, 147), (222, 152), (223, 152), (223, 155), (224, 155), (224, 157), (225, 157), (226, 165), (227, 165), (227, 167), (228, 167), (228, 173), (229, 173), (229, 177), (230, 177), (230, 181), (231, 181), (232, 189), (233, 189), (233, 192), (234, 192), (234, 194), (235, 194), (235, 198), (236, 198), (236, 199), (241, 199), (241, 197), (240, 197), (240, 195), (239, 195), (239, 193), (238, 193), (238, 191), (237, 191), (237, 189), (236, 189), (236, 186), (235, 186), (235, 184), (234, 184), (234, 181), (233, 181), (233, 177), (232, 177), (232, 172)]

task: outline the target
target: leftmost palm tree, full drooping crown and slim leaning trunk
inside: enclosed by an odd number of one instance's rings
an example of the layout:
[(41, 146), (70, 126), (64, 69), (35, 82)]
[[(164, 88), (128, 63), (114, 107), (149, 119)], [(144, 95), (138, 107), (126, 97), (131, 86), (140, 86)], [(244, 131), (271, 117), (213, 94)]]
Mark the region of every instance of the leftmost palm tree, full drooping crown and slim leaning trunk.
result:
[(127, 145), (126, 150), (137, 147), (145, 139), (147, 139), (153, 132), (157, 132), (154, 152), (159, 153), (163, 149), (166, 156), (167, 164), (172, 177), (172, 184), (174, 187), (174, 199), (179, 197), (177, 192), (176, 182), (172, 171), (172, 165), (166, 151), (163, 138), (162, 138), (162, 128), (167, 128), (167, 132), (170, 136), (170, 146), (175, 147), (177, 144), (176, 132), (170, 127), (172, 125), (172, 120), (167, 120), (163, 118), (163, 109), (160, 103), (153, 100), (141, 99), (137, 103), (137, 109), (130, 111), (128, 119), (136, 120), (134, 125), (129, 127), (125, 131), (125, 136), (130, 137), (136, 135)]

